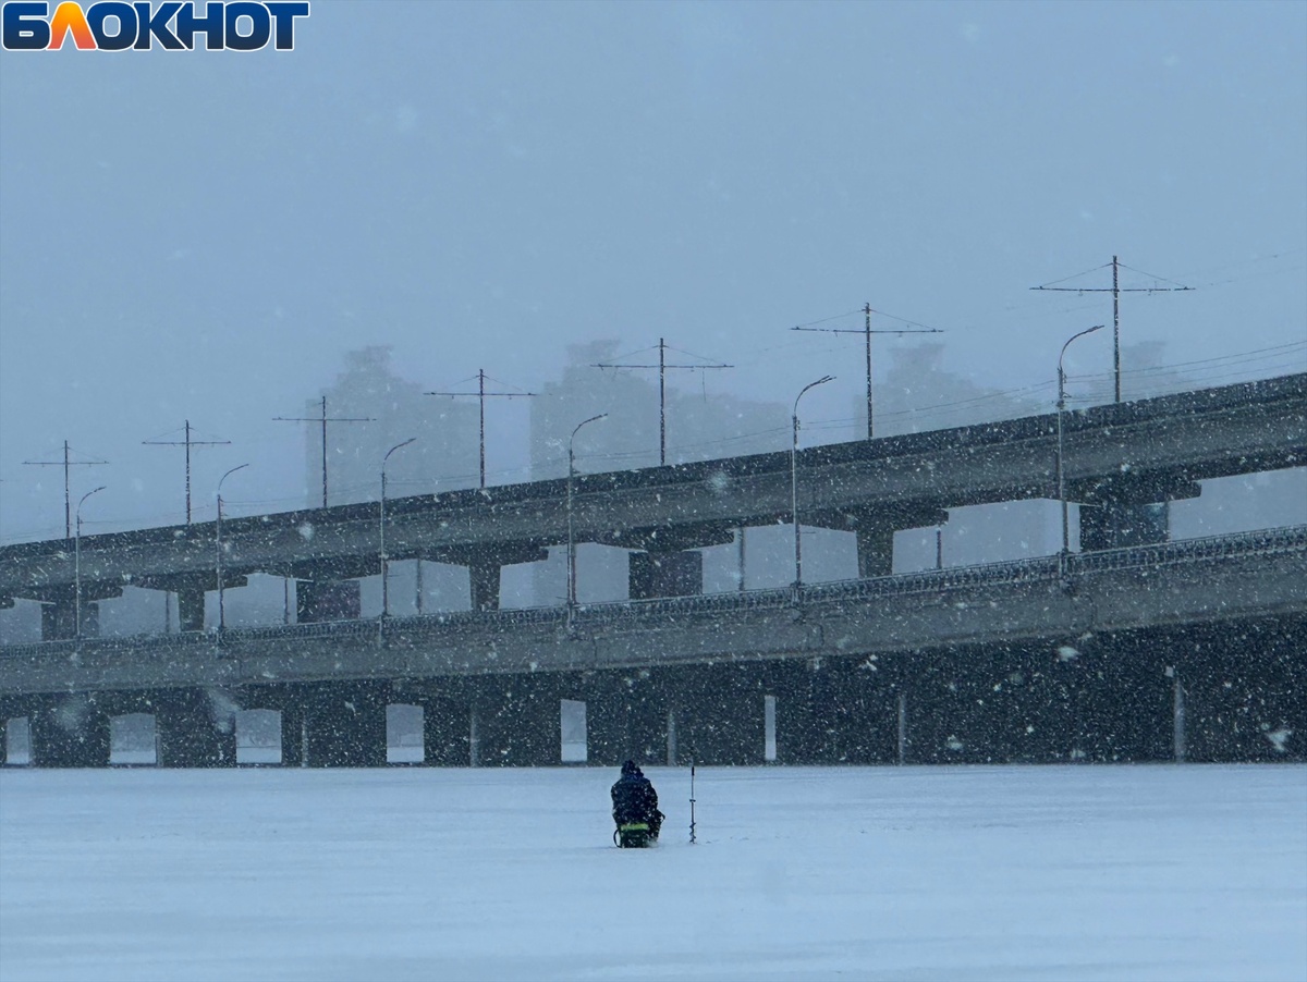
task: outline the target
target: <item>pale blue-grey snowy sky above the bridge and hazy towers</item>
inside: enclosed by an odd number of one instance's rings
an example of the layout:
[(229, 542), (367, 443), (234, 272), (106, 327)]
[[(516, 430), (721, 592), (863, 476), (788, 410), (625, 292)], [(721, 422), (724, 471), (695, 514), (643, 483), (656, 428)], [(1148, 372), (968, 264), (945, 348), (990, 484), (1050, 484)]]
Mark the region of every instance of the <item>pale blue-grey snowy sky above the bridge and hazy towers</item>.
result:
[[(663, 336), (753, 398), (834, 373), (805, 407), (840, 418), (859, 340), (793, 325), (870, 302), (978, 384), (1047, 383), (1111, 299), (1029, 287), (1108, 287), (1115, 253), (1197, 287), (1123, 298), (1127, 343), (1302, 371), (1304, 175), (1302, 3), (315, 0), (293, 52), (5, 52), (0, 538), (61, 534), (24, 461), (64, 439), (110, 461), (73, 475), (95, 530), (178, 521), (180, 452), (141, 440), (187, 418), (231, 440), (197, 500), (248, 461), (240, 496), (295, 507), (272, 418), (365, 345), (531, 389)], [(1068, 360), (1108, 372), (1110, 332)]]

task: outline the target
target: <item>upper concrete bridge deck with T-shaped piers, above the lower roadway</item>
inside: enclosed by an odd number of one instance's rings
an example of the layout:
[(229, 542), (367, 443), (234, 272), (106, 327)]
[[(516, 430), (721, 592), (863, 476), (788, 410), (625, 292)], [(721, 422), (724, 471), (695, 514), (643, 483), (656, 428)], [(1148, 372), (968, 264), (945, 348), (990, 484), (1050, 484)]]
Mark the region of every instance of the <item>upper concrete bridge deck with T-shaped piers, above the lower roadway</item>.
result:
[[(1085, 508), (1086, 551), (1163, 542), (1166, 504), (1199, 481), (1307, 462), (1307, 375), (1069, 413), (1063, 461)], [(936, 525), (948, 508), (1056, 499), (1057, 419), (816, 447), (797, 458), (802, 524), (856, 534), (859, 576), (893, 569), (894, 533)], [(737, 529), (791, 518), (789, 454), (770, 453), (575, 482), (576, 542), (631, 550), (630, 597), (702, 593), (702, 554)], [(567, 541), (566, 481), (418, 495), (387, 503), (387, 552), (469, 568), (473, 610), (499, 606), (501, 569)], [(77, 633), (74, 560), (65, 539), (0, 548), (0, 606), (43, 605), (42, 636)], [(255, 572), (297, 580), (301, 623), (357, 618), (358, 578), (380, 571), (379, 505), (357, 504), (223, 522), (223, 585)], [(81, 539), (82, 635), (94, 605), (124, 585), (175, 592), (183, 631), (204, 628), (217, 589), (213, 524)]]

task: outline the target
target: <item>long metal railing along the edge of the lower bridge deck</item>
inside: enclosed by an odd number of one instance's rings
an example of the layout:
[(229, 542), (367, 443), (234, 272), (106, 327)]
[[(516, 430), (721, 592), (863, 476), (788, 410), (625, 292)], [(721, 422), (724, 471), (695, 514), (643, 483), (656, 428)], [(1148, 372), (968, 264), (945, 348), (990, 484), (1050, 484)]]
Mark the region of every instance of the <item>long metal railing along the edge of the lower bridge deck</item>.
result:
[[(912, 594), (948, 594), (982, 586), (1021, 582), (1056, 582), (1065, 575), (1074, 580), (1087, 573), (1102, 573), (1138, 568), (1162, 568), (1196, 562), (1213, 562), (1249, 555), (1276, 555), (1307, 551), (1307, 525), (1263, 529), (1234, 535), (1212, 535), (1179, 542), (1161, 542), (1148, 546), (1095, 552), (1073, 552), (1067, 556), (1065, 571), (1059, 569), (1059, 556), (1036, 556), (1005, 563), (983, 563), (966, 567), (945, 567), (869, 580), (842, 580), (836, 582), (805, 585), (797, 599), (805, 606), (830, 606), (874, 599), (877, 597), (903, 597)], [(750, 610), (782, 610), (795, 605), (792, 588), (742, 590), (698, 594), (691, 597), (664, 597), (642, 601), (616, 601), (582, 603), (571, 616), (574, 626), (603, 626), (621, 622), (660, 620), (669, 616), (702, 616), (711, 614), (742, 612)], [(50, 657), (77, 652), (144, 652), (149, 649), (197, 650), (209, 648), (221, 657), (223, 645), (246, 645), (278, 640), (332, 640), (350, 639), (416, 639), (431, 637), (465, 629), (511, 628), (527, 624), (555, 624), (569, 620), (566, 607), (524, 607), (494, 611), (443, 611), (420, 616), (332, 620), (307, 624), (227, 628), (217, 631), (188, 631), (173, 635), (127, 635), (119, 637), (84, 639), (81, 641), (38, 641), (4, 645), (5, 658)]]

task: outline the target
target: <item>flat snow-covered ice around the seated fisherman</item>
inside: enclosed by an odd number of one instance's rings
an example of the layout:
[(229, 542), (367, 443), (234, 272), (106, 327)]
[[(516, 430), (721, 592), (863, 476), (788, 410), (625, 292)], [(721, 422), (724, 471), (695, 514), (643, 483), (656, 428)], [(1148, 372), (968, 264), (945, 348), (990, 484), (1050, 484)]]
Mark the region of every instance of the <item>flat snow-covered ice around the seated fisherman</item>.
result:
[(0, 978), (1307, 978), (1307, 768), (8, 770)]

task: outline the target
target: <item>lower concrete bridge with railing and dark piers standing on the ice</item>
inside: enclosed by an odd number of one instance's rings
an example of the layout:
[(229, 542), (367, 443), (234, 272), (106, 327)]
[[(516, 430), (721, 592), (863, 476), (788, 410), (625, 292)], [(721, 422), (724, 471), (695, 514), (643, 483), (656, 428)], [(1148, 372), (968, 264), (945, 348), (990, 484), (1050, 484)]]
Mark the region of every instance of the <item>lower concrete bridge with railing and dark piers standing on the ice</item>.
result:
[[(238, 763), (265, 710), (290, 765), (1304, 760), (1307, 526), (792, 590), (12, 645), (0, 720), (31, 760)], [(572, 742), (575, 743), (575, 729)]]

